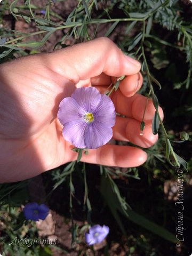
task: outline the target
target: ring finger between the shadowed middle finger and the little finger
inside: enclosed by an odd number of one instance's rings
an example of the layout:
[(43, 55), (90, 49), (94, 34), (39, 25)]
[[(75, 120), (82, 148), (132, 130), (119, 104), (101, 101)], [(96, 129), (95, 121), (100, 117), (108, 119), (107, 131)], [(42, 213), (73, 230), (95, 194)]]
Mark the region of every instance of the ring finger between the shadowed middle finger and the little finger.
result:
[(154, 135), (150, 125), (145, 126), (143, 135), (140, 135), (140, 122), (131, 118), (116, 117), (116, 123), (113, 127), (113, 138), (115, 140), (130, 141), (134, 145), (142, 148), (153, 146), (158, 135)]

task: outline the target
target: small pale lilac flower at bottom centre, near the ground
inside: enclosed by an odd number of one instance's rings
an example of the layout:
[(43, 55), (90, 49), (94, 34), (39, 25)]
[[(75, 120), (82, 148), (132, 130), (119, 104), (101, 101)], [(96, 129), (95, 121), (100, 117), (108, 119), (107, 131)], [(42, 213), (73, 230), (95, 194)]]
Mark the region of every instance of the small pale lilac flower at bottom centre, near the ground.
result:
[(90, 228), (89, 233), (85, 233), (85, 241), (88, 245), (98, 244), (109, 234), (109, 227), (95, 225)]

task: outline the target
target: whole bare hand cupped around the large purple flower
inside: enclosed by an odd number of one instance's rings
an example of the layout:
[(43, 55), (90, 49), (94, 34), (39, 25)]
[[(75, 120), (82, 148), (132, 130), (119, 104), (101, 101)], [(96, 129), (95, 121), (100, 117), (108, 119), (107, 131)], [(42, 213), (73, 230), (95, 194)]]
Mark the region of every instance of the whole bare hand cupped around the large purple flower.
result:
[[(126, 75), (111, 95), (117, 113), (113, 138), (151, 147), (157, 135), (151, 132), (155, 108), (148, 101), (144, 135), (140, 122), (146, 98), (136, 92), (142, 85), (140, 63), (125, 57), (108, 38), (77, 44), (46, 54), (34, 54), (5, 62), (0, 68), (0, 182), (34, 177), (64, 163), (77, 153), (62, 137), (57, 119), (60, 101), (76, 87), (95, 86), (101, 93), (115, 77)], [(163, 111), (159, 108), (163, 118)], [(147, 154), (140, 148), (105, 145), (82, 156), (87, 163), (133, 167)]]

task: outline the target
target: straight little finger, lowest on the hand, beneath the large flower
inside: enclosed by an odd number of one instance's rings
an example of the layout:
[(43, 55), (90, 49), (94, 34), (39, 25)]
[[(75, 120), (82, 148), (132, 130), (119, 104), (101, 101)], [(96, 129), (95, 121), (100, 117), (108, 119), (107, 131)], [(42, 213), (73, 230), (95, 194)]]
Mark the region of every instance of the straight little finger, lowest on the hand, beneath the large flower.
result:
[(98, 149), (89, 150), (82, 155), (81, 161), (107, 166), (135, 167), (147, 160), (145, 151), (130, 146), (105, 145)]

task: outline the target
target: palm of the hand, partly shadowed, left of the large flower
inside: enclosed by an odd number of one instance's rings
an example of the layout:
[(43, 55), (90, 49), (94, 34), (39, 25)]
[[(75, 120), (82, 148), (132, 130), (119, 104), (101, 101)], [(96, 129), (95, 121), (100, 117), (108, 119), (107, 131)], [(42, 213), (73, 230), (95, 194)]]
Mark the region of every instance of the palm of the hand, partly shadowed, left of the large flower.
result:
[(50, 170), (71, 160), (69, 143), (62, 139), (56, 117), (59, 102), (71, 94), (75, 85), (45, 63), (45, 59), (34, 55), (18, 59), (17, 66), (12, 61), (1, 69), (6, 97), (1, 103), (5, 111), (0, 138), (2, 145), (6, 143), (6, 159), (18, 162), (17, 176), (21, 169), (32, 173), (37, 170), (37, 175), (38, 170)]

